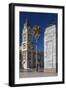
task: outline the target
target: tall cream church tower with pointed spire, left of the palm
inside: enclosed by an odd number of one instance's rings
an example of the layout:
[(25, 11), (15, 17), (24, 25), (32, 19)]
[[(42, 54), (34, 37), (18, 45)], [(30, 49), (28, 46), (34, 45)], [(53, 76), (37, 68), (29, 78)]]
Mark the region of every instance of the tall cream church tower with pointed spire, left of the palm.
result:
[(31, 26), (26, 20), (24, 24), (24, 28), (22, 30), (22, 45), (21, 45), (21, 51), (22, 51), (22, 67), (24, 69), (31, 68), (32, 64), (32, 33), (31, 33)]

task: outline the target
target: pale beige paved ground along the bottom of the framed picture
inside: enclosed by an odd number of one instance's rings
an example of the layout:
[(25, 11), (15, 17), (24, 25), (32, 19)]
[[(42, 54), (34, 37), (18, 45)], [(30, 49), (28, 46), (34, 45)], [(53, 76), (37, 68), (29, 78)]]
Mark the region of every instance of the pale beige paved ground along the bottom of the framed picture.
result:
[(20, 72), (20, 78), (57, 76), (56, 72)]

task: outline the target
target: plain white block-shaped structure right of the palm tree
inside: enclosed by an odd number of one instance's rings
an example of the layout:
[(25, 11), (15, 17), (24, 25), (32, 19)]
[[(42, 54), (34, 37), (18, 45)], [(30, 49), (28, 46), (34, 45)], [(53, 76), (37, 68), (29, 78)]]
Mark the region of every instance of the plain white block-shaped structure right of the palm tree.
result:
[(56, 25), (44, 32), (44, 70), (56, 71)]

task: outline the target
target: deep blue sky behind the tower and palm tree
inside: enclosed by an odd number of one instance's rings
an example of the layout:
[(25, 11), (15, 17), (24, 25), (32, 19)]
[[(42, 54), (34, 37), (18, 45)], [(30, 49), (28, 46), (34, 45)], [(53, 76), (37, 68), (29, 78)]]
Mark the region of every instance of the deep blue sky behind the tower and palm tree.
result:
[[(57, 20), (58, 15), (55, 13), (35, 13), (35, 12), (20, 12), (19, 14), (19, 27), (20, 27), (20, 46), (22, 42), (22, 30), (25, 23), (26, 18), (29, 20), (29, 23), (31, 27), (34, 27), (35, 25), (39, 25), (41, 28), (41, 34), (40, 39), (38, 41), (38, 50), (43, 51), (44, 50), (44, 31), (45, 28), (49, 26), (49, 23), (53, 21), (53, 24), (56, 25), (57, 28)], [(35, 45), (35, 39), (34, 39), (34, 47)]]

